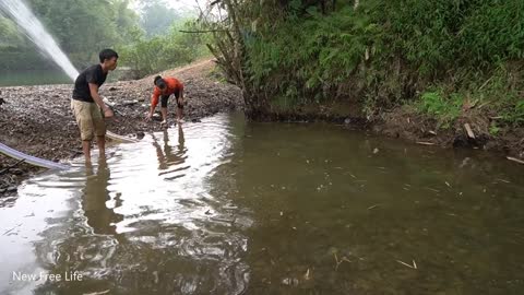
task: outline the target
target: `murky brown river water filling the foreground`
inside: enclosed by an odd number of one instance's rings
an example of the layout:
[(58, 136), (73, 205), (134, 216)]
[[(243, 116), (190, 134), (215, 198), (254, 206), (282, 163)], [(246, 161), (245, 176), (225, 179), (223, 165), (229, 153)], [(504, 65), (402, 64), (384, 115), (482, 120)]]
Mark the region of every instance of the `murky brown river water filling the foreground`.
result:
[(524, 294), (487, 153), (231, 114), (70, 164), (0, 200), (0, 294)]

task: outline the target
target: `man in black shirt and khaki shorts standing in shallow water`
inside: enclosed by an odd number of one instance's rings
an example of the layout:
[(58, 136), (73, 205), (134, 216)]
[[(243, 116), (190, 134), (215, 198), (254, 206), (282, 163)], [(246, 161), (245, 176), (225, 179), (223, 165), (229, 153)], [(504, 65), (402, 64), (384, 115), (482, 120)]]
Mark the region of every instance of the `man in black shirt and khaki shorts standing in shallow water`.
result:
[(100, 157), (105, 157), (106, 123), (102, 114), (104, 113), (106, 118), (114, 116), (112, 110), (98, 95), (98, 88), (106, 81), (107, 73), (117, 68), (118, 54), (111, 49), (104, 49), (99, 54), (99, 60), (100, 63), (85, 69), (76, 78), (71, 99), (71, 108), (80, 128), (86, 162), (91, 162), (91, 142), (94, 135), (96, 135)]

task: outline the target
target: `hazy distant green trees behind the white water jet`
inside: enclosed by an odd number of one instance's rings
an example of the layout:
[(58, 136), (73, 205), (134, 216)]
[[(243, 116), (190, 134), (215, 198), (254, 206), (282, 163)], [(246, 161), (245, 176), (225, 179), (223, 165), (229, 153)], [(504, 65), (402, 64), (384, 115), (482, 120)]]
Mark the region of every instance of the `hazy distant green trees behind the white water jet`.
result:
[[(27, 4), (78, 69), (97, 62), (103, 48), (117, 49), (119, 66), (135, 70), (136, 78), (209, 52), (203, 36), (179, 32), (194, 28), (194, 12), (179, 13), (163, 0), (135, 2), (138, 11), (128, 0), (28, 0)], [(0, 70), (49, 69), (53, 64), (12, 20), (0, 14)]]

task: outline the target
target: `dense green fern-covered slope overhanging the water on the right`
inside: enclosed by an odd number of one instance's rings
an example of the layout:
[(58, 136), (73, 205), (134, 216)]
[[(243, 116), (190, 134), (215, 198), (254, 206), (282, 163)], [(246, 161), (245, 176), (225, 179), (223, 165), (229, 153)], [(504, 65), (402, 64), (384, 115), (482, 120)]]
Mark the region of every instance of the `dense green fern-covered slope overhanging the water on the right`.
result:
[(407, 104), (442, 127), (468, 109), (523, 123), (523, 1), (352, 2), (221, 1), (212, 49), (248, 111), (353, 101), (369, 117)]

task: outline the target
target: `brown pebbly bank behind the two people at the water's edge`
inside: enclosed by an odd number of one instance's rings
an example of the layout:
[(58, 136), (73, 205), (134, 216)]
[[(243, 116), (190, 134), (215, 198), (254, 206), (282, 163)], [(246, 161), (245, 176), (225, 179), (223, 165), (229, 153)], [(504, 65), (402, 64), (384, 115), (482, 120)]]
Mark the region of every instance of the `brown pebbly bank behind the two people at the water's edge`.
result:
[[(221, 82), (214, 62), (203, 60), (160, 73), (184, 83), (186, 120), (242, 108), (241, 92)], [(104, 84), (100, 94), (114, 105), (116, 117), (108, 130), (130, 137), (160, 130), (159, 121), (145, 122), (153, 91), (153, 75), (135, 81)], [(70, 109), (72, 85), (16, 86), (0, 88), (0, 142), (21, 152), (51, 161), (82, 154), (80, 132)], [(159, 110), (159, 107), (157, 108)], [(175, 121), (172, 101), (168, 106)], [(16, 186), (39, 168), (0, 154), (0, 196), (16, 193)], [(14, 167), (10, 168), (11, 166)], [(8, 170), (5, 170), (9, 168)]]

